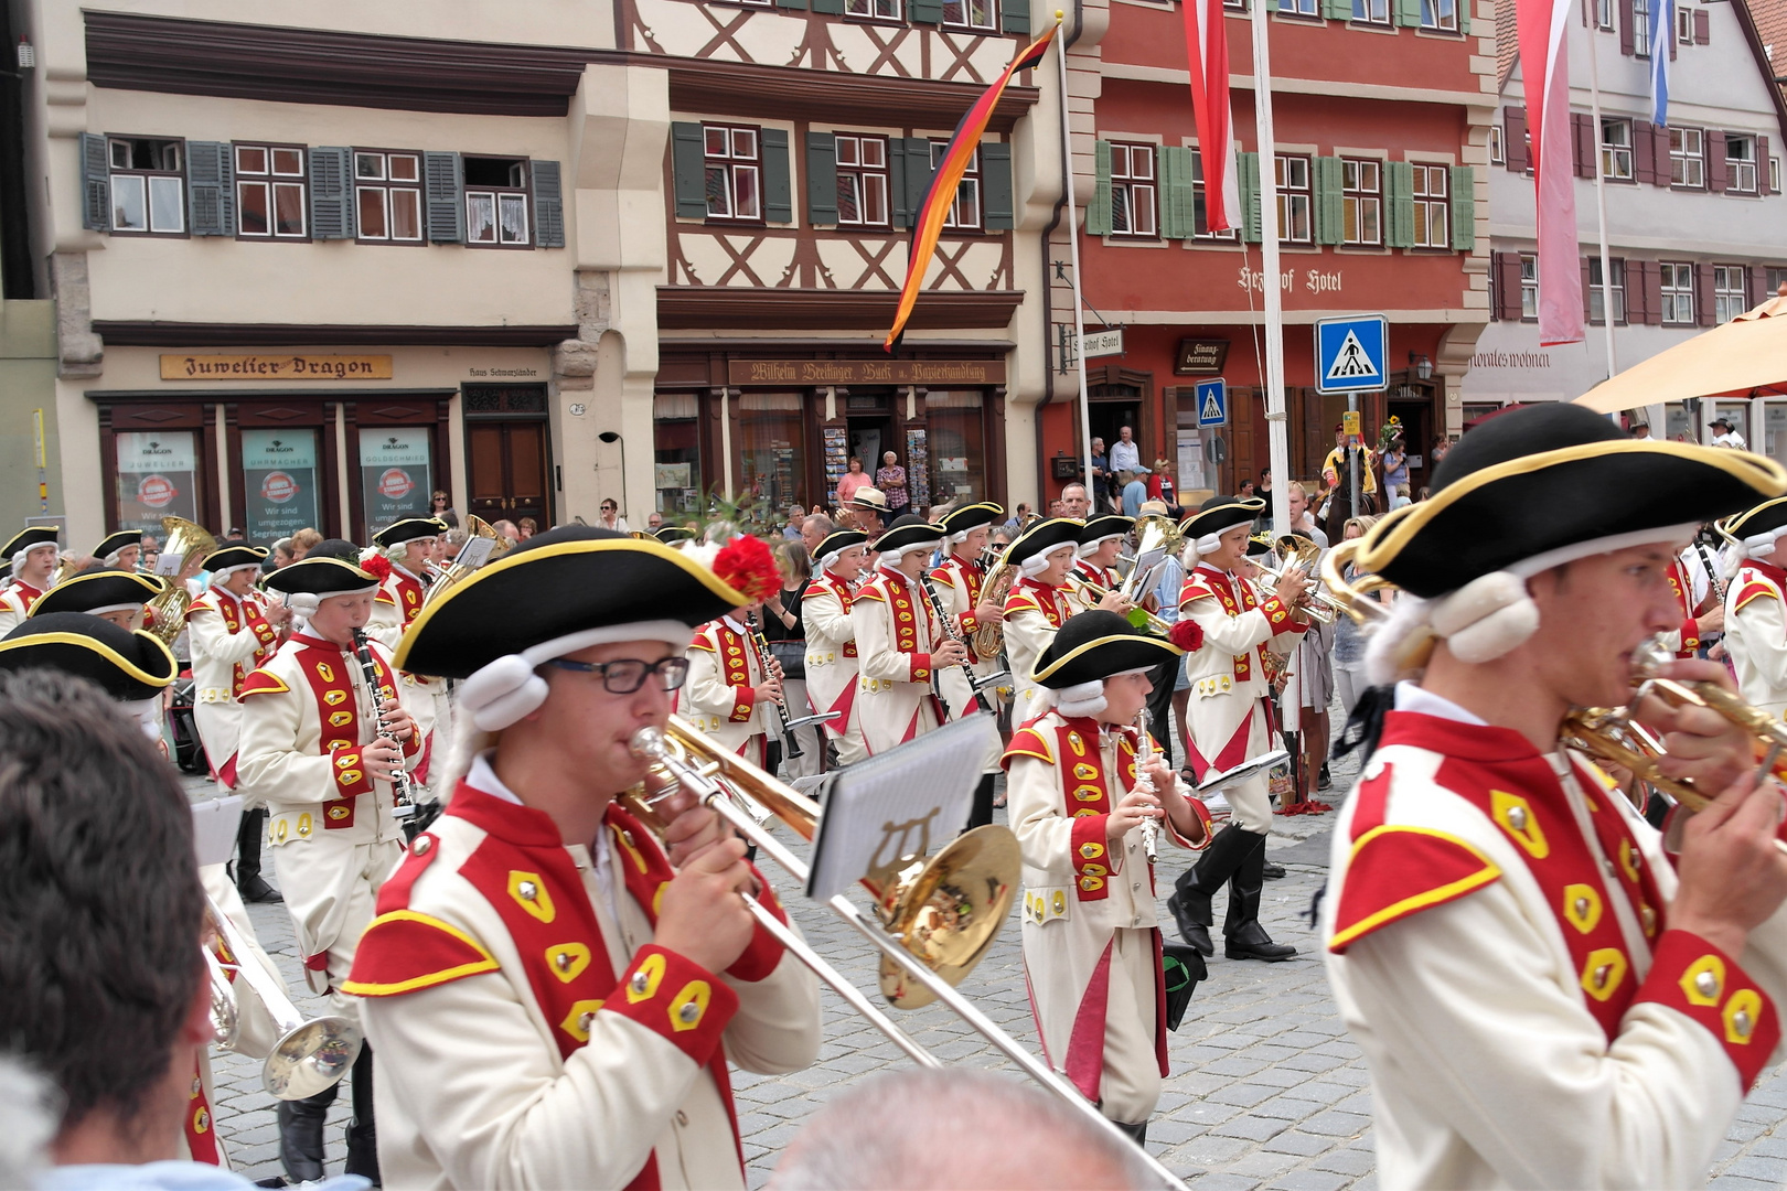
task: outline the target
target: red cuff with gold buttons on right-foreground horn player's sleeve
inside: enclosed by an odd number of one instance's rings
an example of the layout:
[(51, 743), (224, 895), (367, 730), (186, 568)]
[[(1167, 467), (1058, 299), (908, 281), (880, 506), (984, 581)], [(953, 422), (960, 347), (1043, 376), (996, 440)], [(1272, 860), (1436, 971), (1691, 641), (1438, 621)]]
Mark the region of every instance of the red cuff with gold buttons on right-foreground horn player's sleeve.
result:
[(1774, 1004), (1737, 961), (1687, 930), (1665, 930), (1637, 1000), (1667, 1005), (1724, 1048), (1742, 1091), (1774, 1054), (1782, 1027)]

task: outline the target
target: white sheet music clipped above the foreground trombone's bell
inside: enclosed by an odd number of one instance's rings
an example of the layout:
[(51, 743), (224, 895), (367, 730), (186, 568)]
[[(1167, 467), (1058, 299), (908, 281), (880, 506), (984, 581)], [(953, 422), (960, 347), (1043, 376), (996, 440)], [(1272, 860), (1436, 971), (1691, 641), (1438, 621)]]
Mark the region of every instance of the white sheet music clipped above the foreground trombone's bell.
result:
[(935, 854), (961, 834), (999, 745), (994, 716), (977, 712), (827, 779), (806, 895), (843, 893), (874, 868), (877, 852), (881, 861)]

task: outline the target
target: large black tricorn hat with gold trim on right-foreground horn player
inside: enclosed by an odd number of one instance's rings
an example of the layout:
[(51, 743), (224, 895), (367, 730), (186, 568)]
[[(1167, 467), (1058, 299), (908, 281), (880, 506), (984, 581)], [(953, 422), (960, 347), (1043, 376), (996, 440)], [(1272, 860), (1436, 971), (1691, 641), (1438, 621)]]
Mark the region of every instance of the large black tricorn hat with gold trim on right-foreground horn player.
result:
[(1528, 405), (1458, 439), (1433, 471), (1433, 496), (1372, 525), (1358, 568), (1431, 598), (1515, 564), (1556, 566), (1573, 548), (1619, 550), (1674, 527), (1685, 541), (1703, 521), (1782, 495), (1787, 470), (1773, 459), (1626, 437), (1581, 405)]

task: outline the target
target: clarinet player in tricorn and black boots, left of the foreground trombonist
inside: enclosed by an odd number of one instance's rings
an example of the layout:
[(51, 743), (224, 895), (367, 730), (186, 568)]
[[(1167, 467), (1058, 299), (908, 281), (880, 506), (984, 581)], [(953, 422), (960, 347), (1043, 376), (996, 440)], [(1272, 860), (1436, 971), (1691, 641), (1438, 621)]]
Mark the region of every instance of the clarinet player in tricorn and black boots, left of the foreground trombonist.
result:
[[(375, 691), (356, 655), (354, 630), (366, 625), (379, 589), (379, 579), (359, 568), (359, 548), (340, 537), (322, 541), (266, 584), (286, 593), (286, 607), (304, 623), (241, 686), (236, 771), (272, 814), (266, 836), (306, 982), (331, 996), (332, 1012), (357, 1021), (359, 1004), (341, 984), (379, 886), (404, 854), (391, 775), (416, 762), (420, 741), (384, 646), (366, 645)], [(377, 1184), (370, 1046), (350, 1079), (347, 1173)], [(331, 1086), (279, 1102), (279, 1155), (293, 1182), (322, 1177), (323, 1118), (334, 1096)]]

